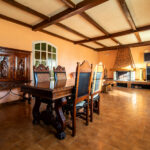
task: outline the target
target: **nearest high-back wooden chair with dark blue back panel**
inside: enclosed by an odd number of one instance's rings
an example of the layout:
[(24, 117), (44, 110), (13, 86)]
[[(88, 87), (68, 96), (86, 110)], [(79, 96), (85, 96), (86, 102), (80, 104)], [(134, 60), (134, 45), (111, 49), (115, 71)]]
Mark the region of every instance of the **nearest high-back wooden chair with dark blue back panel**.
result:
[(76, 108), (82, 102), (86, 102), (86, 125), (89, 123), (89, 96), (91, 90), (93, 65), (89, 65), (84, 61), (81, 65), (77, 63), (76, 79), (75, 79), (75, 98), (73, 101), (73, 116), (72, 116), (72, 135), (76, 134)]

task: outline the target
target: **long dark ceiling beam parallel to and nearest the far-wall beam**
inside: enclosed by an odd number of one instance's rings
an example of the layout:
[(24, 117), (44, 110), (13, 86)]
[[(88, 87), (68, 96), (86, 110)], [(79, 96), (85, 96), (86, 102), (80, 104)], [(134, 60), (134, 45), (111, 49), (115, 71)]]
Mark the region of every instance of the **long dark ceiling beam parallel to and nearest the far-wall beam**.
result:
[(135, 33), (135, 32), (145, 31), (145, 30), (150, 30), (150, 25), (147, 25), (147, 26), (144, 26), (144, 27), (139, 27), (136, 30), (130, 29), (130, 30), (126, 30), (126, 31), (113, 33), (113, 34), (110, 34), (110, 35), (104, 35), (104, 36), (89, 38), (88, 40), (85, 39), (85, 40), (75, 41), (74, 43), (75, 44), (80, 44), (80, 43), (92, 42), (92, 41), (97, 41), (97, 40), (104, 40), (104, 39), (109, 39), (109, 38), (112, 38), (112, 37), (114, 38), (114, 37), (118, 37), (118, 36), (132, 34), (132, 33)]

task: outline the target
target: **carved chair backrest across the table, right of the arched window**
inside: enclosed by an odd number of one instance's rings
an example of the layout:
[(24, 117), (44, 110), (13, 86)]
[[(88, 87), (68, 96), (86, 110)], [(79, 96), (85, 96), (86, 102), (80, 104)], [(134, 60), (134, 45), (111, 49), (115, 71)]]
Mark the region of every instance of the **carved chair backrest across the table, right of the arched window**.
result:
[(54, 79), (58, 80), (67, 80), (65, 67), (57, 66), (57, 68), (53, 67), (54, 70)]

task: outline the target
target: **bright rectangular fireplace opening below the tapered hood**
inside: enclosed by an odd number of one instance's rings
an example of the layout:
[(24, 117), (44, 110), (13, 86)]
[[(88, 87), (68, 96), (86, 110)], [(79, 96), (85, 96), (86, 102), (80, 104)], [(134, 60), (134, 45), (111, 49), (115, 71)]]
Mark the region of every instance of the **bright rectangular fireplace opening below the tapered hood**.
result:
[(114, 80), (133, 81), (135, 80), (135, 72), (134, 71), (115, 71)]

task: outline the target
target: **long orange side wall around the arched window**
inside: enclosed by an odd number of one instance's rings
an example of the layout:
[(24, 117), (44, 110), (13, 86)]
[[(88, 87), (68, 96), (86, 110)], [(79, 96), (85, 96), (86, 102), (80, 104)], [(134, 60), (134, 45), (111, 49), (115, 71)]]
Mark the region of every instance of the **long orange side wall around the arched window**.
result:
[[(52, 43), (57, 47), (58, 65), (66, 67), (67, 75), (75, 71), (77, 62), (88, 60), (94, 65), (99, 62), (98, 52), (2, 19), (0, 19), (0, 36), (0, 46), (28, 51), (32, 51), (32, 43), (35, 41)], [(4, 92), (0, 92), (0, 97), (2, 95)], [(6, 101), (9, 100), (10, 98)]]

